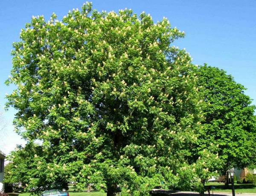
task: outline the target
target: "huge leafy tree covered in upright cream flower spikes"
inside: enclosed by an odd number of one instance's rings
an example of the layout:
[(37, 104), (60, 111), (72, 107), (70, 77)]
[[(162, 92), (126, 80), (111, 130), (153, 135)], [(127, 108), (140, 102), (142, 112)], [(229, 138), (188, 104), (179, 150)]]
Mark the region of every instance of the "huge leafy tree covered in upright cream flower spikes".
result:
[(91, 3), (62, 21), (32, 17), (6, 81), (17, 85), (6, 104), (17, 110), (15, 130), (28, 145), (42, 143), (27, 187), (66, 178), (111, 196), (117, 185), (122, 195), (147, 195), (161, 182), (200, 183), (191, 151), (202, 117), (196, 67), (171, 46), (183, 36), (166, 18), (99, 13)]

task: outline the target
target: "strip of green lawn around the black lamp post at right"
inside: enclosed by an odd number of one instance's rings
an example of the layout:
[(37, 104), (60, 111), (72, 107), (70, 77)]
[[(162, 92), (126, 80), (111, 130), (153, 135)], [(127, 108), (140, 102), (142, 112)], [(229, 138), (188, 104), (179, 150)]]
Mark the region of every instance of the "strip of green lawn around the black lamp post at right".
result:
[[(214, 185), (214, 191), (221, 192), (232, 192), (231, 184), (229, 184), (229, 188), (226, 189), (223, 182), (210, 182), (208, 185)], [(234, 184), (235, 185), (235, 193), (256, 193), (256, 185), (255, 184)]]

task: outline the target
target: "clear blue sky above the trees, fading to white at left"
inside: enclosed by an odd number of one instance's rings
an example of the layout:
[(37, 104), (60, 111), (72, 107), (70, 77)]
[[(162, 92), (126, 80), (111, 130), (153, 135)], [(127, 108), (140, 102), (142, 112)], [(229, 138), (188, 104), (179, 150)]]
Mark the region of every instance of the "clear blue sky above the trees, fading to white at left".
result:
[[(32, 15), (44, 15), (49, 20), (52, 12), (58, 19), (73, 8), (79, 8), (83, 0), (0, 0), (0, 107), (14, 86), (4, 81), (12, 69), (12, 42), (19, 40), (20, 29)], [(186, 48), (192, 63), (217, 66), (233, 75), (244, 85), (246, 95), (256, 104), (256, 1), (255, 0), (94, 0), (93, 9), (107, 12), (132, 9), (140, 14), (145, 11), (153, 20), (167, 17), (172, 27), (185, 31), (186, 37), (173, 45)], [(3, 113), (7, 123), (0, 134), (0, 150), (8, 154), (16, 144), (24, 143), (13, 132), (15, 111)]]

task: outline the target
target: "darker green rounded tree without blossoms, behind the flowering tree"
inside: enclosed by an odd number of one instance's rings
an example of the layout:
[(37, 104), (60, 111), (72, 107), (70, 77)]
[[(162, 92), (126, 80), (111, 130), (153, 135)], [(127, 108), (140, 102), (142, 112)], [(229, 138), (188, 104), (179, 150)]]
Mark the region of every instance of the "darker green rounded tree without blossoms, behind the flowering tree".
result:
[(204, 129), (198, 137), (199, 149), (218, 145), (225, 175), (231, 167), (255, 164), (255, 106), (244, 94), (244, 86), (224, 70), (206, 64), (199, 67), (197, 76), (198, 86), (202, 86), (200, 94), (204, 98), (205, 116)]

